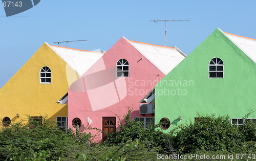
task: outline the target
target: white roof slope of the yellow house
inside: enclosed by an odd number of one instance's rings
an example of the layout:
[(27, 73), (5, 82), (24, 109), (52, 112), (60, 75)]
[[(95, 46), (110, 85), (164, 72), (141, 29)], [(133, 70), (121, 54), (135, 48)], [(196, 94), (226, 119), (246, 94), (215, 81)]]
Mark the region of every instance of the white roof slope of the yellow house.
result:
[(83, 75), (104, 54), (46, 44), (69, 64), (79, 76)]

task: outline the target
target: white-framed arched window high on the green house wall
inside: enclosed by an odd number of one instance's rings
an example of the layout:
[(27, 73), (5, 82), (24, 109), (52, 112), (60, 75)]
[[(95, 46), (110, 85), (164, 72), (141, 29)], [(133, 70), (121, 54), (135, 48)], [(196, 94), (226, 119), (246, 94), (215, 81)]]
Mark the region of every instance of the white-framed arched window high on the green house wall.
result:
[(212, 58), (209, 62), (209, 78), (223, 78), (223, 67), (220, 58)]

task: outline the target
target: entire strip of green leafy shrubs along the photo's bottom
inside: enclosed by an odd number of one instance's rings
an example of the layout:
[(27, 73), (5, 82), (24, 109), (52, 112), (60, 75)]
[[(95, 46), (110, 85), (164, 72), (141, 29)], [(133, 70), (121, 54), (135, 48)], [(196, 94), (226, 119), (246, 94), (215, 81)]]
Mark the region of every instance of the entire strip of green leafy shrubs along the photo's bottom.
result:
[(196, 122), (164, 133), (159, 125), (144, 128), (143, 123), (132, 121), (131, 112), (129, 109), (125, 114), (123, 124), (118, 117), (119, 130), (108, 134), (108, 140), (102, 143), (95, 143), (95, 135), (79, 130), (68, 130), (65, 134), (47, 117), (42, 117), (41, 121), (29, 118), (29, 122), (11, 124), (0, 129), (0, 161), (157, 160), (158, 154), (236, 156), (256, 153), (256, 125), (251, 121), (243, 126), (231, 125), (228, 116), (212, 114), (198, 116)]

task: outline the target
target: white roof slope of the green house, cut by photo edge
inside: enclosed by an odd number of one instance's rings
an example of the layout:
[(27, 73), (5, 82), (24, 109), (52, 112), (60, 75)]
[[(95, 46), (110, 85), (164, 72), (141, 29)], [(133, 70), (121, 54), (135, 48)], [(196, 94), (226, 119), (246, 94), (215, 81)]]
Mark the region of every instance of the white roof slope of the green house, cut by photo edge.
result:
[(248, 57), (256, 63), (256, 39), (223, 32)]

